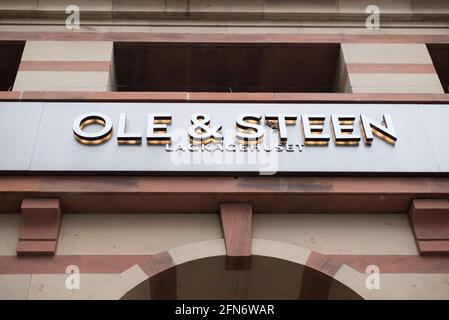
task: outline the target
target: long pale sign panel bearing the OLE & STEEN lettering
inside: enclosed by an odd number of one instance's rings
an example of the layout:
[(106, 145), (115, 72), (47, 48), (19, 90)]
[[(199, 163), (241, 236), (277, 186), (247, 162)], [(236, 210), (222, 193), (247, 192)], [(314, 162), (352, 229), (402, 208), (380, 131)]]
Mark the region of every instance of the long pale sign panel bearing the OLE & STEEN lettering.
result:
[(0, 170), (441, 174), (447, 123), (436, 105), (4, 102)]

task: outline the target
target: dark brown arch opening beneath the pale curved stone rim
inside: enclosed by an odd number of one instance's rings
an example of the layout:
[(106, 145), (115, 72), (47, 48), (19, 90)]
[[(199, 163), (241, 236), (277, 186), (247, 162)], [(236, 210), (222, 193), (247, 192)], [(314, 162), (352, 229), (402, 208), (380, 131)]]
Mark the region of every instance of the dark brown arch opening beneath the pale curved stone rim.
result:
[(226, 256), (192, 260), (145, 280), (121, 299), (362, 299), (338, 280), (310, 267), (257, 255), (251, 262), (251, 270), (229, 271)]

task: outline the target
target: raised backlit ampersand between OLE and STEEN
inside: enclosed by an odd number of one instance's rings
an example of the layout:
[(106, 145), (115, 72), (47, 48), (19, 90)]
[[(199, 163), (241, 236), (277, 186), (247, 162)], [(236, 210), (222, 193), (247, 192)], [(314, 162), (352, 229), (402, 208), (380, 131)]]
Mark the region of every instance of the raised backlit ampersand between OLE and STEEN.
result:
[(192, 143), (208, 144), (223, 140), (223, 135), (220, 133), (221, 125), (210, 127), (210, 117), (207, 113), (195, 113), (192, 115), (191, 122), (189, 137)]

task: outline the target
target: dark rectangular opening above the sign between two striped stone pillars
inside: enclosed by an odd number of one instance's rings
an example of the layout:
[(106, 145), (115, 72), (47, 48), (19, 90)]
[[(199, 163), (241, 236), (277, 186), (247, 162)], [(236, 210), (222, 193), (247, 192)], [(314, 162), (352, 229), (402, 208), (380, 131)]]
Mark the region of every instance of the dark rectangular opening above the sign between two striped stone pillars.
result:
[(338, 43), (114, 43), (117, 91), (333, 92)]

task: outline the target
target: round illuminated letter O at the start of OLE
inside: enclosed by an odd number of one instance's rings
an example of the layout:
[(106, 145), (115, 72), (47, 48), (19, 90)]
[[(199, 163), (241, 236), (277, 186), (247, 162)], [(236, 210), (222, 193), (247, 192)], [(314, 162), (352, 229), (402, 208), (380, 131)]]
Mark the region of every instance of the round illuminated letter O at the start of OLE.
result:
[[(84, 131), (84, 128), (91, 124), (100, 124), (103, 126), (103, 129), (94, 133)], [(75, 134), (76, 140), (81, 143), (100, 144), (111, 138), (112, 120), (103, 113), (85, 113), (73, 122), (73, 133)]]

